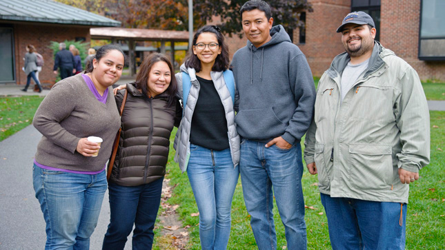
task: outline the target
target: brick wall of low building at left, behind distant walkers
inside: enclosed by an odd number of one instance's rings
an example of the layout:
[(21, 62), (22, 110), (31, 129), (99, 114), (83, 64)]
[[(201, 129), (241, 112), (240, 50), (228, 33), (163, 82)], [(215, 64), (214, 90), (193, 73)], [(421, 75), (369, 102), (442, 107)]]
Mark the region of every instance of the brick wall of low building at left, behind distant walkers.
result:
[[(17, 84), (26, 84), (26, 75), (21, 68), (25, 61), (26, 45), (32, 44), (45, 60), (45, 65), (39, 73), (39, 81), (43, 86), (51, 86), (56, 81), (52, 72), (54, 58), (52, 50), (48, 48), (50, 41), (75, 40), (76, 37), (85, 37), (90, 42), (90, 27), (70, 25), (49, 25), (37, 23), (14, 24), (14, 52)], [(34, 82), (34, 81), (32, 81)]]

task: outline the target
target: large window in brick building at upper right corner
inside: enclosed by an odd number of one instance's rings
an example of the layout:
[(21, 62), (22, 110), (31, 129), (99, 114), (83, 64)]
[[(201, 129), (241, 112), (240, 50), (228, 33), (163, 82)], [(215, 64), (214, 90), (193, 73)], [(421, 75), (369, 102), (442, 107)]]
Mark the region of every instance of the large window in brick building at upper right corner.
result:
[(445, 1), (422, 0), (420, 5), (419, 59), (445, 61)]

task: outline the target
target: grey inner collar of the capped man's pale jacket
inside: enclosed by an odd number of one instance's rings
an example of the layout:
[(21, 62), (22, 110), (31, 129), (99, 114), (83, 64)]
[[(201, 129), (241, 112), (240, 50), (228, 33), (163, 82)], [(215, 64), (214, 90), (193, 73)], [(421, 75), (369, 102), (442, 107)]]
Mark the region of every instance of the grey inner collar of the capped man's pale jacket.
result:
[[(383, 51), (383, 46), (378, 42), (374, 41), (374, 48), (373, 48), (373, 54), (371, 54), (368, 67), (366, 68), (366, 73), (364, 74), (363, 78), (366, 78), (371, 73), (378, 70), (382, 65), (384, 65), (384, 61), (381, 56), (381, 52)], [(350, 61), (350, 56), (347, 52), (343, 52), (342, 54), (339, 54), (338, 56), (335, 56), (335, 59), (331, 63), (329, 70), (327, 72), (328, 76), (330, 78), (335, 79), (337, 76), (341, 76), (344, 68)]]

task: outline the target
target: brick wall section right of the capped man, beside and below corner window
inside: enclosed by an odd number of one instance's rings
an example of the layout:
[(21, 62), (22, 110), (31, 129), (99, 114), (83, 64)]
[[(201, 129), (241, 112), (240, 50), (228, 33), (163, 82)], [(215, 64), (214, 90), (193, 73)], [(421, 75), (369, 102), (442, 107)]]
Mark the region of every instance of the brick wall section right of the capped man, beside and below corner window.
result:
[(380, 40), (415, 68), (422, 80), (445, 80), (445, 62), (418, 59), (420, 0), (382, 0)]

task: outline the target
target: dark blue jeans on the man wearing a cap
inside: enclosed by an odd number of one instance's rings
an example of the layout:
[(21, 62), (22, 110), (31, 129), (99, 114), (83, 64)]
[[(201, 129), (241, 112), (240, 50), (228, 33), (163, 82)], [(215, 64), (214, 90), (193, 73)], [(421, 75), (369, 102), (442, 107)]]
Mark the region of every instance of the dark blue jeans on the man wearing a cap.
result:
[(321, 198), (334, 250), (405, 249), (406, 204)]

